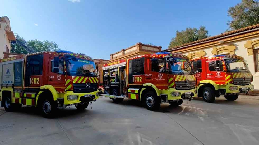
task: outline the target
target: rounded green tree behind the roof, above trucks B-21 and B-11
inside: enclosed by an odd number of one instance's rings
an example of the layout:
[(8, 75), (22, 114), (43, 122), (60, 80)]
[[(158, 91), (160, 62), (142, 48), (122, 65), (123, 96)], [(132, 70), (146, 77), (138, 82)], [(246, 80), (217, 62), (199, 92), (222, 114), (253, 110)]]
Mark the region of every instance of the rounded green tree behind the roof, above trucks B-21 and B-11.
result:
[(204, 26), (200, 26), (199, 29), (186, 28), (186, 30), (182, 30), (181, 32), (177, 30), (176, 36), (172, 38), (168, 47), (171, 48), (175, 46), (180, 46), (186, 43), (190, 43), (208, 37), (210, 37), (209, 32), (208, 30), (206, 30)]

